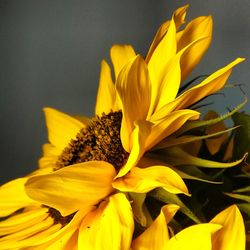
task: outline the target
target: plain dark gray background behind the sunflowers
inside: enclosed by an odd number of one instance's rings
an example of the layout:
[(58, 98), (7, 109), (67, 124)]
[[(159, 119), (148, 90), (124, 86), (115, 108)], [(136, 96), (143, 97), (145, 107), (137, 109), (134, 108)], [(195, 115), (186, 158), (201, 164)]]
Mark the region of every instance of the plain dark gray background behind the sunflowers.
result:
[[(93, 114), (100, 61), (115, 43), (145, 55), (158, 26), (187, 1), (1, 0), (0, 161), (3, 183), (37, 166), (46, 142), (42, 108)], [(188, 20), (212, 14), (212, 45), (193, 76), (238, 56), (250, 59), (249, 0), (191, 0)], [(249, 90), (249, 60), (230, 78)], [(214, 99), (225, 112), (242, 100), (238, 89)], [(249, 111), (249, 104), (245, 110)]]

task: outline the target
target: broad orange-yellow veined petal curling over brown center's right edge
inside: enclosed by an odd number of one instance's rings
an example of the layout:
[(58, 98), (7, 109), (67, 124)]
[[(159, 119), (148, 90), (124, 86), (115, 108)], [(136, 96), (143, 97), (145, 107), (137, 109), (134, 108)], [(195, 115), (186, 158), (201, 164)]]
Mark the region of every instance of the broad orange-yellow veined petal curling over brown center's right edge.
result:
[(137, 56), (120, 72), (116, 89), (122, 103), (121, 140), (124, 149), (130, 152), (130, 135), (136, 120), (145, 120), (151, 95), (147, 65)]

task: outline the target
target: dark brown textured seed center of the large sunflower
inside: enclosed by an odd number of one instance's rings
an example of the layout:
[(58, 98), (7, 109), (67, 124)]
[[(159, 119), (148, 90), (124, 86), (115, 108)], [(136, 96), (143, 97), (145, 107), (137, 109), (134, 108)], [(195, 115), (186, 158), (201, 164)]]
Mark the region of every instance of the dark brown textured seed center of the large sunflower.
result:
[(129, 155), (121, 143), (121, 120), (121, 111), (93, 118), (63, 150), (54, 170), (87, 161), (106, 161), (119, 170)]

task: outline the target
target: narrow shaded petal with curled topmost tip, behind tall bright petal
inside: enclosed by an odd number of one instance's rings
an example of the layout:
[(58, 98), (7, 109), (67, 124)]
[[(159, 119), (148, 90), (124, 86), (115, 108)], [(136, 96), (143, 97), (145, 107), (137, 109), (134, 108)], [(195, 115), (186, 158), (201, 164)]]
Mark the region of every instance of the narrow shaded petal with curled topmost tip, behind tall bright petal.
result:
[[(173, 14), (173, 18), (175, 21), (175, 25), (176, 25), (176, 29), (179, 29), (179, 27), (185, 23), (185, 18), (186, 18), (186, 13), (187, 13), (187, 8), (188, 5), (185, 5), (183, 7), (178, 8), (174, 14)], [(150, 49), (148, 51), (147, 57), (146, 57), (146, 62), (148, 63), (152, 54), (154, 53), (154, 50), (156, 49), (156, 47), (158, 46), (159, 42), (162, 40), (162, 38), (164, 37), (164, 35), (166, 34), (166, 32), (169, 29), (169, 25), (170, 25), (170, 21), (171, 20), (167, 20), (166, 22), (164, 22), (160, 28), (157, 30), (157, 33), (154, 37), (154, 40), (150, 46)]]

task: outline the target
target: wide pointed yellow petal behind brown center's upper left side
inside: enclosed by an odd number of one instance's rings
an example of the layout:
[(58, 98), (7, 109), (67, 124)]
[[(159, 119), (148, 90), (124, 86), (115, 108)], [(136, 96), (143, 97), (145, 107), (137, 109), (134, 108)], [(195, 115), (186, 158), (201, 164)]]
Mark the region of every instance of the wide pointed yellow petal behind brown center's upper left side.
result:
[(52, 108), (45, 108), (49, 141), (63, 150), (84, 125), (77, 119)]

